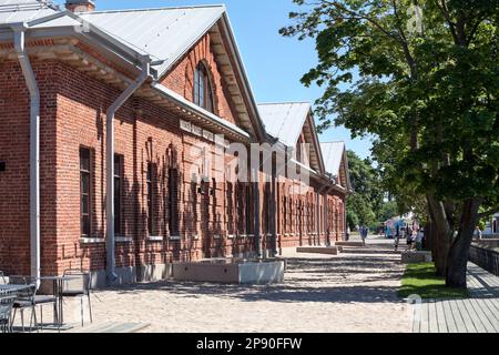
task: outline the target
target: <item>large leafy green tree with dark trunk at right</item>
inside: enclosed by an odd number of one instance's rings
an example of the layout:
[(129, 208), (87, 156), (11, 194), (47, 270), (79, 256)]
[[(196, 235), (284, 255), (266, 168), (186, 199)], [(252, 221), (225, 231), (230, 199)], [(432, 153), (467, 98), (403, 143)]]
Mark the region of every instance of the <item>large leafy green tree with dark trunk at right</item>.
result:
[(302, 81), (324, 87), (320, 128), (335, 114), (377, 136), (395, 193), (427, 202), (438, 272), (466, 287), (475, 227), (499, 207), (498, 1), (294, 2), (304, 11), (281, 33), (316, 40)]

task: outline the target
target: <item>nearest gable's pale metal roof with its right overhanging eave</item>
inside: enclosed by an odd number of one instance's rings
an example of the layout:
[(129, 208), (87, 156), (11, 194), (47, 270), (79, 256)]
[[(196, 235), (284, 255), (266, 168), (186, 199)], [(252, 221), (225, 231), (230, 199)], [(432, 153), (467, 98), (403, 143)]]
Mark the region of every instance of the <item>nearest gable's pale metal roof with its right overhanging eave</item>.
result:
[[(32, 29), (75, 28), (85, 21), (95, 32), (134, 60), (149, 57), (156, 80), (172, 69), (207, 33), (217, 38), (222, 64), (228, 78), (228, 91), (242, 126), (254, 139), (265, 140), (256, 102), (237, 49), (225, 6), (115, 10), (72, 13), (55, 12), (30, 23)], [(85, 29), (83, 23), (83, 29)], [(88, 31), (84, 31), (88, 32)], [(223, 45), (221, 45), (223, 44)], [(161, 85), (161, 84), (160, 84)], [(156, 85), (157, 87), (157, 85)]]

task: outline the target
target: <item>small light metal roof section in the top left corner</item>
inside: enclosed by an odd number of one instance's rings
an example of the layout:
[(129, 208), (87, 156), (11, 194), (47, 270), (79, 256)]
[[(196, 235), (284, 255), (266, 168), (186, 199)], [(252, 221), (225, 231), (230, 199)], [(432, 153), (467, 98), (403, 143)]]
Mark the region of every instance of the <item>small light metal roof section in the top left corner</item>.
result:
[(0, 23), (28, 22), (55, 13), (51, 1), (0, 0)]

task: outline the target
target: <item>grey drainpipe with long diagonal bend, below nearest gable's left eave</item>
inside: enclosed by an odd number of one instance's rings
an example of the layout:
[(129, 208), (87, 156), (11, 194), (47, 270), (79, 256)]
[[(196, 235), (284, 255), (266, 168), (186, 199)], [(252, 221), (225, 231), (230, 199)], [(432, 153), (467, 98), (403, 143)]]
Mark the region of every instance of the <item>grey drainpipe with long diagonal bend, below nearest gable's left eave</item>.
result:
[(116, 111), (132, 97), (140, 87), (151, 77), (151, 60), (147, 55), (142, 59), (142, 72), (135, 81), (126, 88), (125, 91), (108, 109), (105, 124), (105, 145), (106, 145), (106, 169), (105, 169), (105, 217), (106, 231), (105, 251), (106, 251), (106, 281), (112, 284), (118, 280), (115, 271), (115, 235), (114, 235), (114, 115)]

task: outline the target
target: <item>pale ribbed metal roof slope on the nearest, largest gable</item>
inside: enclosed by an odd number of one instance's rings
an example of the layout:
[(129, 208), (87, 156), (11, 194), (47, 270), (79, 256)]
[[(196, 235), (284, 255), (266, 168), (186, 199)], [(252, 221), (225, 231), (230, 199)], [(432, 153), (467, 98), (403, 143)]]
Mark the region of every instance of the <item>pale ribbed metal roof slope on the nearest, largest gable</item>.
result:
[(135, 49), (172, 65), (224, 13), (224, 6), (78, 13)]

